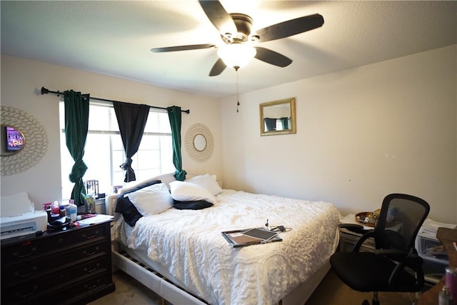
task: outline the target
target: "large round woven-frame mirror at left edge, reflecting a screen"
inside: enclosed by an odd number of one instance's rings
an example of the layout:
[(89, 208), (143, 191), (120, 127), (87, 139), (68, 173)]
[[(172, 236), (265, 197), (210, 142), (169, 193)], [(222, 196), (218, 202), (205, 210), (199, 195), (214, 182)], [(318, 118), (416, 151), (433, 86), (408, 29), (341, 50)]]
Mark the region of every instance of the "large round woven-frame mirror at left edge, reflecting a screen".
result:
[(1, 106), (1, 129), (1, 176), (26, 171), (37, 164), (48, 149), (43, 126), (21, 109)]

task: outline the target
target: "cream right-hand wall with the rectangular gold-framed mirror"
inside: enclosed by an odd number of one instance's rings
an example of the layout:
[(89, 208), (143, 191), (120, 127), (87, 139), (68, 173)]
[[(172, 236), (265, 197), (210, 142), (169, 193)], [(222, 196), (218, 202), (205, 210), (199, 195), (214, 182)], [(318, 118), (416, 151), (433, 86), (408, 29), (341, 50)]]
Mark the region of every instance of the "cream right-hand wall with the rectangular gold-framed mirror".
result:
[[(373, 211), (400, 192), (457, 223), (457, 46), (221, 100), (226, 188)], [(240, 84), (242, 86), (242, 83)], [(258, 104), (296, 97), (297, 133), (260, 136)]]

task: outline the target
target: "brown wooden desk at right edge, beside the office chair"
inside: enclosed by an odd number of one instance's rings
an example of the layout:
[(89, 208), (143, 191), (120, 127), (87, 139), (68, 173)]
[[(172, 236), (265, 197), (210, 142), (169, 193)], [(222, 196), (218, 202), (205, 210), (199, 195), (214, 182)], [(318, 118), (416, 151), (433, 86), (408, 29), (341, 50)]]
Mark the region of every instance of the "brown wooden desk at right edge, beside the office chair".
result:
[[(457, 267), (457, 250), (453, 246), (453, 241), (457, 241), (457, 229), (438, 228), (436, 238), (444, 245), (449, 256), (449, 266)], [(444, 277), (438, 284), (433, 286), (428, 291), (424, 292), (418, 299), (418, 305), (438, 305), (438, 294), (443, 288)], [(457, 300), (454, 300), (457, 304)]]

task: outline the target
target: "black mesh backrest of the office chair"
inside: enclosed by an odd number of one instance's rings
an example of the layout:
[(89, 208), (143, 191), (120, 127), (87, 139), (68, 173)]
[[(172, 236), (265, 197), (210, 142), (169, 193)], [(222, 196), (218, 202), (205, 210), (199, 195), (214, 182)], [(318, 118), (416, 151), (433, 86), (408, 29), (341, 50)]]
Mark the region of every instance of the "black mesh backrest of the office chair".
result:
[(416, 196), (389, 194), (384, 198), (378, 223), (374, 228), (376, 249), (409, 251), (430, 206)]

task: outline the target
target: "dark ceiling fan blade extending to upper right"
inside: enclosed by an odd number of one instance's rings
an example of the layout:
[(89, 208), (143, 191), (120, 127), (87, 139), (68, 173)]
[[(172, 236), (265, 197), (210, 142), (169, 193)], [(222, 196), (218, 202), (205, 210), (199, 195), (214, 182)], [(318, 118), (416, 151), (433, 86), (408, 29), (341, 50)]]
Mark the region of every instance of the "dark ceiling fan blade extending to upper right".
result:
[(323, 16), (314, 14), (273, 24), (257, 32), (258, 41), (271, 41), (316, 29), (323, 24)]

